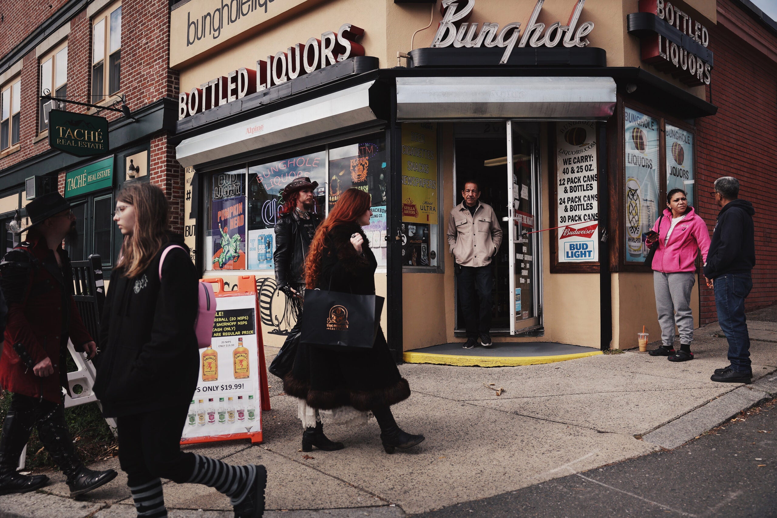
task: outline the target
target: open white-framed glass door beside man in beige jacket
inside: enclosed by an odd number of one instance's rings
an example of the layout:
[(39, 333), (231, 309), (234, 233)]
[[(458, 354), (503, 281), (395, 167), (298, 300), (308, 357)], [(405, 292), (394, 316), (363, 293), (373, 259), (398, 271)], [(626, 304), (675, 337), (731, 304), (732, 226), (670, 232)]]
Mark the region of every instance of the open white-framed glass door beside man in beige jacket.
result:
[[(507, 245), (510, 269), (510, 334), (540, 324), (538, 274), (538, 160), (535, 141), (507, 123)], [(510, 159), (510, 157), (512, 157)]]

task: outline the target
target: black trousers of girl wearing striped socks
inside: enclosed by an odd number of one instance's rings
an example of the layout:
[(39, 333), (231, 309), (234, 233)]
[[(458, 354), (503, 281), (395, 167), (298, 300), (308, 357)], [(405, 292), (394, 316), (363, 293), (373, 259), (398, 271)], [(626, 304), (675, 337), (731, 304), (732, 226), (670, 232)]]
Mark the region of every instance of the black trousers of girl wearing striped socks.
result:
[(119, 464), (127, 485), (137, 487), (155, 478), (188, 481), (194, 472), (194, 454), (181, 451), (181, 434), (189, 404), (126, 415), (117, 419)]

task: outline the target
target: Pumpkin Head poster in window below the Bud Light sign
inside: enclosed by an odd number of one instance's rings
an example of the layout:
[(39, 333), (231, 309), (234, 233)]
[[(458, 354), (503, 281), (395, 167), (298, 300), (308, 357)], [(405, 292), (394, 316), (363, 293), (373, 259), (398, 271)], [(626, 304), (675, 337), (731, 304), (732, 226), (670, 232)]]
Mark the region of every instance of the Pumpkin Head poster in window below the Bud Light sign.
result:
[(246, 269), (246, 203), (243, 196), (213, 200), (212, 269)]

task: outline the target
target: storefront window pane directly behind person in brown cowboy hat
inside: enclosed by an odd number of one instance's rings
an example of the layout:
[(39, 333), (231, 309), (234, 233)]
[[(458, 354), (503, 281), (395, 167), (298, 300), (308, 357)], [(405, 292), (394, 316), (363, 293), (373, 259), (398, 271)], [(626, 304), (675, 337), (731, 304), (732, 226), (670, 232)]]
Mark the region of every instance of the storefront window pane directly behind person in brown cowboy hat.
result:
[(274, 228), (283, 203), (280, 192), (300, 176), (319, 183), (314, 211), (323, 212), (326, 209), (326, 151), (249, 166), (248, 269), (274, 269)]

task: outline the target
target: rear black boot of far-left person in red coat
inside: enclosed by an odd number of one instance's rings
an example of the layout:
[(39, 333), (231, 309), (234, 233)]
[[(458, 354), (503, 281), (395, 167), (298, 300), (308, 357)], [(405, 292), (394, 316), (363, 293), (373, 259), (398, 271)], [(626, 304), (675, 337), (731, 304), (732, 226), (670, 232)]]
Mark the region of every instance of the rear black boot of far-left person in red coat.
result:
[(33, 411), (9, 411), (2, 423), (0, 437), (0, 495), (26, 493), (44, 487), (46, 475), (21, 475), (16, 471), (24, 445), (33, 427)]

